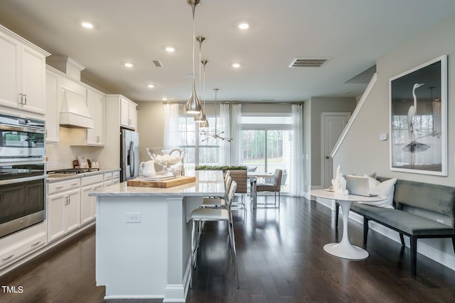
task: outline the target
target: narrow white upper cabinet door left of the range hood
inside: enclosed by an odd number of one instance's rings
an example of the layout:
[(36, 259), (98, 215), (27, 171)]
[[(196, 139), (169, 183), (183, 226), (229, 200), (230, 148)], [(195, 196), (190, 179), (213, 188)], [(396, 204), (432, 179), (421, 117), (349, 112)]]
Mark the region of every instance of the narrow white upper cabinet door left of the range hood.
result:
[(49, 72), (45, 75), (45, 143), (60, 141), (58, 122), (58, 79)]

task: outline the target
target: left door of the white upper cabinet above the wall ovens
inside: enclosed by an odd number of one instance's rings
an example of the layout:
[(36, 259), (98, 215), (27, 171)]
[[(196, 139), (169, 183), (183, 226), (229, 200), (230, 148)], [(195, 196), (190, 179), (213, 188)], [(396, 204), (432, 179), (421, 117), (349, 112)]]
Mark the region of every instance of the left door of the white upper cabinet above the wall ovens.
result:
[(0, 33), (0, 105), (18, 107), (20, 44)]

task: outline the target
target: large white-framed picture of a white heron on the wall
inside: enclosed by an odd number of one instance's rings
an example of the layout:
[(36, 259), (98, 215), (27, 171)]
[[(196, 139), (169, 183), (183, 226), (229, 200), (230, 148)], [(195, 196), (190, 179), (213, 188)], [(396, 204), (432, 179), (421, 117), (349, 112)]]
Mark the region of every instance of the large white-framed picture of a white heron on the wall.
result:
[(447, 175), (447, 56), (392, 77), (390, 170)]

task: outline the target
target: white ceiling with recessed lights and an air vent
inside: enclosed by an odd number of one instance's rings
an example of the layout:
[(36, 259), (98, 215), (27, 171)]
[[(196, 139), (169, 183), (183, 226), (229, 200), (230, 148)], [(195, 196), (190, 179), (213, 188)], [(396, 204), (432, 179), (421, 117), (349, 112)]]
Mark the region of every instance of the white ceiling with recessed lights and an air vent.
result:
[[(215, 87), (218, 100), (226, 101), (358, 96), (365, 81), (349, 79), (454, 13), (454, 0), (201, 0), (196, 35), (207, 38), (205, 99), (214, 99)], [(87, 31), (80, 21), (96, 26)], [(240, 21), (250, 29), (240, 31)], [(186, 0), (1, 0), (0, 24), (53, 55), (80, 62), (86, 67), (82, 78), (105, 92), (134, 101), (186, 101), (191, 92)], [(166, 53), (168, 45), (176, 52)], [(294, 57), (331, 60), (319, 68), (290, 68)], [(127, 61), (132, 69), (124, 67)], [(234, 70), (232, 62), (242, 67)]]

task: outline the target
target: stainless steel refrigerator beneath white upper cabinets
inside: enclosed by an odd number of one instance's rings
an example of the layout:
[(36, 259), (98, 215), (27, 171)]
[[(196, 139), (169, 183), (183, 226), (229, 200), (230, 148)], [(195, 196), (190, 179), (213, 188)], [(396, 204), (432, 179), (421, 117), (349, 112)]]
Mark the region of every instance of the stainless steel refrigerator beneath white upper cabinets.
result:
[(121, 128), (120, 182), (139, 176), (139, 133)]

